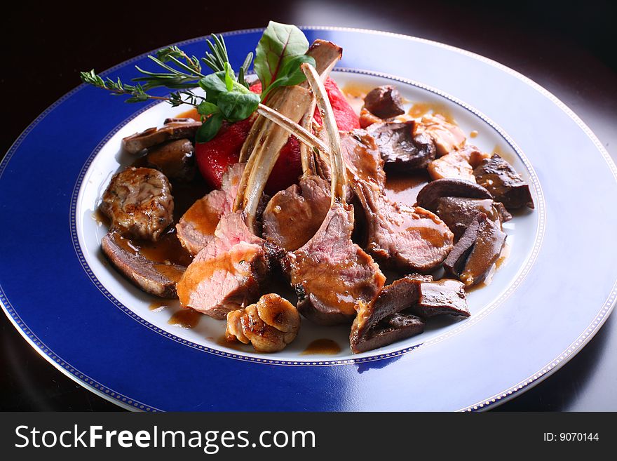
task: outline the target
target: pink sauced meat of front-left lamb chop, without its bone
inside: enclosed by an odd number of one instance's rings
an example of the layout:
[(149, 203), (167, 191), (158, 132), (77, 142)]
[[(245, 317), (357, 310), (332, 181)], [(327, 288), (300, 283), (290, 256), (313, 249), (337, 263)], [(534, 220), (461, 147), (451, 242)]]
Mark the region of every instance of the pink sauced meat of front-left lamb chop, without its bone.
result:
[(177, 283), (178, 298), (185, 307), (224, 319), (257, 299), (269, 270), (263, 240), (246, 227), (241, 212), (228, 213)]

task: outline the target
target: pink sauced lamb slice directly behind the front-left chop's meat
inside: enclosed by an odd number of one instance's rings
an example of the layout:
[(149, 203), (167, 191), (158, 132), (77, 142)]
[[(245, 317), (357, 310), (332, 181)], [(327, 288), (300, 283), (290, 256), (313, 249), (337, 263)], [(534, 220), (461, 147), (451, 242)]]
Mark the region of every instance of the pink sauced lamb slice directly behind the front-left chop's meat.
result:
[(213, 190), (196, 201), (176, 225), (178, 239), (193, 255), (215, 238), (215, 229), (222, 215), (231, 212), (245, 163), (235, 163), (224, 173), (222, 188)]

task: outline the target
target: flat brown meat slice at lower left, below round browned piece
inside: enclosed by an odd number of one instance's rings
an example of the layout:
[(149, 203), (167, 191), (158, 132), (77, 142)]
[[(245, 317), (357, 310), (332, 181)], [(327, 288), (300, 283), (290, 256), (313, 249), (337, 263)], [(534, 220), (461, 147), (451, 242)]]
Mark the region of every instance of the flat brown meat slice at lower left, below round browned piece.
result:
[(109, 262), (137, 288), (161, 298), (176, 298), (176, 282), (186, 267), (144, 258), (118, 232), (104, 236), (101, 248)]

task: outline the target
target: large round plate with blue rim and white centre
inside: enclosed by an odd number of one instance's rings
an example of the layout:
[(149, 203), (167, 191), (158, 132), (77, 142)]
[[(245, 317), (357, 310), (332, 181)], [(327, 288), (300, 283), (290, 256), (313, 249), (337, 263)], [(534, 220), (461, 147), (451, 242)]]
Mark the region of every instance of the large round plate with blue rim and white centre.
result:
[[(182, 108), (124, 105), (79, 86), (0, 166), (0, 302), (20, 333), (88, 389), (146, 411), (480, 410), (560, 368), (616, 299), (604, 242), (617, 233), (617, 168), (595, 135), (548, 91), (473, 53), (384, 32), (303, 29), (309, 41), (344, 48), (333, 74), (342, 87), (394, 83), (407, 100), (446, 107), (463, 131), (477, 131), (473, 143), (498, 149), (531, 185), (536, 210), (506, 223), (510, 255), (470, 293), (472, 316), (431, 321), (422, 335), (358, 355), (345, 347), (345, 328), (306, 321), (278, 354), (219, 345), (222, 322), (205, 317), (192, 329), (170, 325), (177, 306), (154, 312), (153, 299), (107, 265), (93, 211), (126, 164), (119, 140)], [(261, 33), (224, 34), (236, 67)], [(205, 50), (203, 38), (178, 45)], [(128, 80), (146, 61), (105, 74)], [(302, 353), (320, 337), (341, 352)]]

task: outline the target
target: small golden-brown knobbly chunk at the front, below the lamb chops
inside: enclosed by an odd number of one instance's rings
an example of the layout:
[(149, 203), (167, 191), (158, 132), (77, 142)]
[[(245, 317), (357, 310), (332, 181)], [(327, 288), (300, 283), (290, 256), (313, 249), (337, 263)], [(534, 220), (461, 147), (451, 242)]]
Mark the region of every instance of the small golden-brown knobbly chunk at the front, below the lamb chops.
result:
[(249, 342), (257, 352), (278, 352), (292, 342), (300, 316), (291, 302), (276, 293), (263, 295), (257, 304), (227, 314), (226, 340)]

